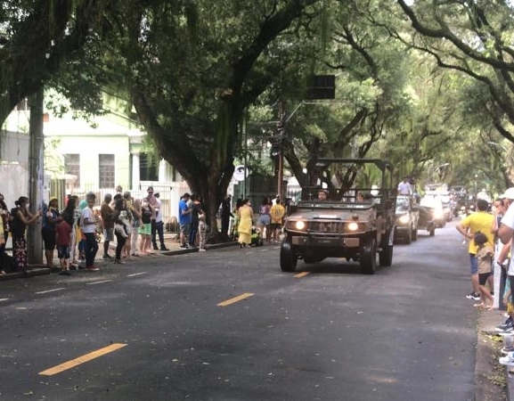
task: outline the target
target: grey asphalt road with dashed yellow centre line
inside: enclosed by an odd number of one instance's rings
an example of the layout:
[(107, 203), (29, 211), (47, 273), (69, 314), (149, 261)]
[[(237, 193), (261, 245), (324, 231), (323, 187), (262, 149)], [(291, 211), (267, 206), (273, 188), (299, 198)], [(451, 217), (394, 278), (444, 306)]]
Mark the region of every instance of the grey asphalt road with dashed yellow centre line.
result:
[(0, 400), (472, 400), (454, 225), (374, 275), (340, 259), (281, 273), (273, 245), (2, 282)]

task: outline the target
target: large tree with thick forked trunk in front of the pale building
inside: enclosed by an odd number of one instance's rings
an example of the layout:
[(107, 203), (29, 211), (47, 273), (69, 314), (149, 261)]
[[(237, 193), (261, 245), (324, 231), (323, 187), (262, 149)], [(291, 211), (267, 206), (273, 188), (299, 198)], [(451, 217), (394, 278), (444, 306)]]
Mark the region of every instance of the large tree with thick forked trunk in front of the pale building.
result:
[(233, 176), (241, 116), (313, 54), (298, 51), (319, 0), (127, 2), (110, 37), (137, 115), (173, 165), (216, 211)]

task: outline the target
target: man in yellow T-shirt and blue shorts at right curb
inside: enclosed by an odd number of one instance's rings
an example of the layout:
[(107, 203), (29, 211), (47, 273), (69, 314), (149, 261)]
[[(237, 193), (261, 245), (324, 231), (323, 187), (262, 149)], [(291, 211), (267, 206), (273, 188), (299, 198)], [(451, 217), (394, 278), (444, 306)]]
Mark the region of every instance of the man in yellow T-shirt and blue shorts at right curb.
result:
[(483, 199), (477, 200), (477, 213), (473, 213), (465, 217), (460, 225), (457, 225), (457, 231), (461, 233), (464, 238), (469, 240), (469, 270), (471, 273), (471, 286), (473, 291), (470, 292), (467, 299), (480, 299), (480, 288), (478, 281), (478, 261), (477, 261), (477, 244), (474, 240), (474, 234), (477, 232), (484, 233), (487, 237), (487, 246), (494, 246), (494, 236), (491, 233), (493, 227), (494, 216), (487, 213), (489, 203)]

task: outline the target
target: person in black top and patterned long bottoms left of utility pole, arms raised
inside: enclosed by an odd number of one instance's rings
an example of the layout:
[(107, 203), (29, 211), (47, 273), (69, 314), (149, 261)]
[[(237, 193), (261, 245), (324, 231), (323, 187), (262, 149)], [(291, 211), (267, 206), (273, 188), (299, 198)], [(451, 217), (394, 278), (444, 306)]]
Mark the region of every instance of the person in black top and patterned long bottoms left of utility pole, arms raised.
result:
[(12, 262), (16, 272), (27, 273), (27, 240), (25, 239), (25, 228), (32, 225), (43, 215), (41, 209), (33, 215), (29, 212), (29, 198), (20, 196), (15, 201), (15, 208), (11, 209), (12, 223)]

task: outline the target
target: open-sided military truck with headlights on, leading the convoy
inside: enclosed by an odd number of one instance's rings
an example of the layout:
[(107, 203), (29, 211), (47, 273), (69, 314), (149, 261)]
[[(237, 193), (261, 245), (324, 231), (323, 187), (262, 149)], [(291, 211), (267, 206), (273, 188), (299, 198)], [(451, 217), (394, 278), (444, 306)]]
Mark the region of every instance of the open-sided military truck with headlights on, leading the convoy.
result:
[[(358, 262), (362, 274), (391, 266), (395, 241), (393, 167), (375, 159), (314, 159), (307, 165), (302, 199), (284, 225), (280, 266), (295, 271), (298, 259)], [(326, 199), (319, 197), (327, 188)], [(322, 191), (324, 192), (324, 191)]]

